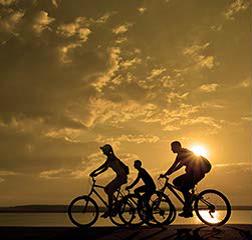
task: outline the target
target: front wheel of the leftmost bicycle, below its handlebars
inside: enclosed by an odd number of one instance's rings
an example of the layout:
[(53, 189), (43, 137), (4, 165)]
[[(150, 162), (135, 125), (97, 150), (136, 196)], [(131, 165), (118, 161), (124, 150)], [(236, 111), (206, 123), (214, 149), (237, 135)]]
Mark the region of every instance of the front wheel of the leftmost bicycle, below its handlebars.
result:
[(92, 226), (98, 218), (99, 208), (89, 196), (79, 196), (71, 201), (68, 217), (71, 222), (81, 228)]

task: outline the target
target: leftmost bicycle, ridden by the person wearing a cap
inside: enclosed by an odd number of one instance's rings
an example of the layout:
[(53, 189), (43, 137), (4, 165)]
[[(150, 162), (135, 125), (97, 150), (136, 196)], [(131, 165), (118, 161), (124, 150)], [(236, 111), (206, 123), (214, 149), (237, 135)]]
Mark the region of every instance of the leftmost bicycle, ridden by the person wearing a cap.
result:
[[(96, 188), (104, 189), (104, 186), (96, 184), (96, 179), (92, 177), (90, 192), (87, 195), (78, 196), (70, 202), (68, 206), (68, 217), (74, 225), (87, 228), (97, 221), (100, 209), (96, 201), (91, 197), (92, 194), (95, 194), (103, 203), (104, 207), (108, 209), (108, 203), (102, 198), (99, 192), (96, 191)], [(109, 215), (111, 222), (117, 226), (123, 226), (125, 224), (120, 217), (118, 219), (121, 207), (120, 200), (123, 197), (124, 194), (120, 189), (114, 193), (114, 201)]]

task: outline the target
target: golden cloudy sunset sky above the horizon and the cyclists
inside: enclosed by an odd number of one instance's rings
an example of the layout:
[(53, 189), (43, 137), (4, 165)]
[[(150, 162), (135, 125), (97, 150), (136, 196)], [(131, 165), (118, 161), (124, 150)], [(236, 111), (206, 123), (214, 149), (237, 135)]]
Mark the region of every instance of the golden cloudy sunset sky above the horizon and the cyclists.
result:
[(105, 143), (156, 177), (173, 140), (251, 204), (251, 40), (249, 0), (0, 0), (0, 205), (67, 204)]

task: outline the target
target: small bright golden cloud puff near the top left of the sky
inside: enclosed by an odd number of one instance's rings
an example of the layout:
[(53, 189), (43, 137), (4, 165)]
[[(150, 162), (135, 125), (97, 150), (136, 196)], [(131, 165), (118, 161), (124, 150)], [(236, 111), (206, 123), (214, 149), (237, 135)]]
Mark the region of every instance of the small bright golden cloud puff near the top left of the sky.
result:
[(49, 17), (47, 12), (40, 11), (34, 19), (33, 30), (37, 34), (41, 34), (44, 30), (50, 29), (49, 25), (54, 21), (55, 19)]

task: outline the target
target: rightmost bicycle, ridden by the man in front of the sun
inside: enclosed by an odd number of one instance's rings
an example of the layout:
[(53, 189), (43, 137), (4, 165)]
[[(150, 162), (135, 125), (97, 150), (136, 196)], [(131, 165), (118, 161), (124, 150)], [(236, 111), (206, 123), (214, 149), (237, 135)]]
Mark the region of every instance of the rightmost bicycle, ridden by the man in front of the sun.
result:
[[(171, 224), (176, 218), (176, 208), (169, 197), (165, 194), (166, 188), (184, 205), (184, 200), (178, 194), (180, 191), (176, 186), (169, 183), (169, 178), (165, 178), (165, 184), (158, 191), (156, 199), (153, 201), (151, 209), (152, 216), (158, 224)], [(167, 202), (167, 198), (169, 201)], [(199, 194), (195, 193), (195, 188), (191, 190), (191, 203), (197, 217), (209, 226), (224, 225), (231, 216), (231, 204), (227, 197), (215, 190), (206, 189)], [(161, 206), (162, 203), (168, 208)]]

